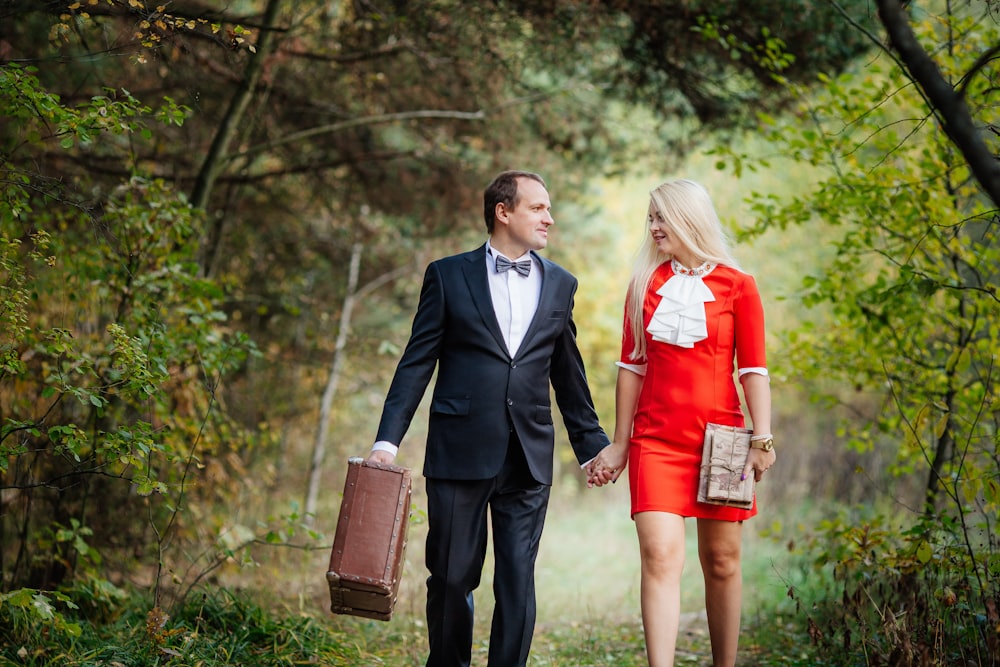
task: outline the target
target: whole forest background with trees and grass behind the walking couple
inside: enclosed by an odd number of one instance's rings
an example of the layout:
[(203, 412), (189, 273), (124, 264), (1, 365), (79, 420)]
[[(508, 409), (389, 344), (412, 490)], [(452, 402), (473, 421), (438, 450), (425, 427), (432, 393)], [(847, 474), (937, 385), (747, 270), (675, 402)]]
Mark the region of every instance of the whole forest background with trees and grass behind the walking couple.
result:
[[(421, 664), (419, 475), (392, 621), (326, 561), (423, 267), (516, 167), (608, 428), (649, 189), (705, 183), (761, 285), (743, 663), (1000, 664), (998, 9), (0, 1), (0, 660)], [(643, 664), (627, 490), (558, 444), (533, 664)]]

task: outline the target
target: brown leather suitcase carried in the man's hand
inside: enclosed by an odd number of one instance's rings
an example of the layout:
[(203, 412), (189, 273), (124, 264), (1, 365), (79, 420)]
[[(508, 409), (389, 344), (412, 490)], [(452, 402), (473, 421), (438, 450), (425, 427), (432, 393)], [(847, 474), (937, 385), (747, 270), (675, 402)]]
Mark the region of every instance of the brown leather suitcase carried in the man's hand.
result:
[(406, 551), (410, 487), (408, 468), (348, 459), (326, 573), (333, 613), (392, 618)]

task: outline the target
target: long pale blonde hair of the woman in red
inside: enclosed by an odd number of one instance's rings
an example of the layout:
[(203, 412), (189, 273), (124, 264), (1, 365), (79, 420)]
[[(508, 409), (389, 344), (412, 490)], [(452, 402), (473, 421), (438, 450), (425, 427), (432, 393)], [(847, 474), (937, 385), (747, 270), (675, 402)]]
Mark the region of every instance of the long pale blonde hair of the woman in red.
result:
[[(650, 204), (663, 217), (670, 234), (694, 255), (696, 268), (705, 262), (723, 264), (739, 269), (729, 251), (729, 240), (712, 205), (708, 191), (699, 183), (687, 179), (673, 179), (658, 185), (649, 193)], [(649, 290), (653, 273), (671, 255), (661, 253), (649, 233), (646, 220), (645, 240), (636, 252), (635, 266), (625, 299), (626, 312), (632, 325), (635, 347), (629, 355), (635, 361), (646, 357), (643, 303)]]

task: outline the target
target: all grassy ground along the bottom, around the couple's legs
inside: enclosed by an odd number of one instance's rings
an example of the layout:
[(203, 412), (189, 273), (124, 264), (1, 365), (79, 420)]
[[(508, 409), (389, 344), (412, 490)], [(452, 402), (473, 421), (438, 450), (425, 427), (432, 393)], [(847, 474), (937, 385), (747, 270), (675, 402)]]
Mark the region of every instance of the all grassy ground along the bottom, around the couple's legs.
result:
[[(416, 486), (417, 507), (422, 499)], [(645, 665), (639, 615), (638, 551), (626, 485), (573, 489), (553, 498), (538, 562), (538, 623), (531, 667)], [(81, 623), (82, 635), (23, 628), (8, 633), (0, 614), (0, 664), (42, 665), (351, 665), (423, 664), (424, 525), (411, 525), (399, 604), (389, 622), (329, 613), (329, 552), (265, 552), (259, 568), (233, 571), (172, 611), (161, 629), (147, 627), (150, 604), (132, 596), (111, 620)], [(745, 630), (740, 664), (820, 665), (788, 618), (783, 551), (746, 524)], [(684, 628), (678, 666), (711, 664), (695, 532), (689, 522), (683, 586)], [(474, 665), (485, 664), (492, 609), (491, 567), (477, 592)], [(0, 612), (3, 610), (0, 609)], [(9, 610), (8, 610), (9, 611)]]

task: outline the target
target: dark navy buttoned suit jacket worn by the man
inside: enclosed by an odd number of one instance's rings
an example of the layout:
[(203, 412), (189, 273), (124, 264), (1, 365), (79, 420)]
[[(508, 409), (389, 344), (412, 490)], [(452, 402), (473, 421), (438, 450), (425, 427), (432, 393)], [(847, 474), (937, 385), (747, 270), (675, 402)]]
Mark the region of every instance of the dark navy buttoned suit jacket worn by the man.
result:
[(542, 267), (538, 310), (511, 357), (493, 311), (485, 254), (483, 245), (427, 267), (377, 440), (401, 443), (437, 367), (424, 475), (496, 476), (513, 428), (531, 474), (551, 484), (555, 429), (550, 385), (577, 460), (588, 461), (608, 444), (576, 344), (577, 281), (556, 263), (532, 253)]

